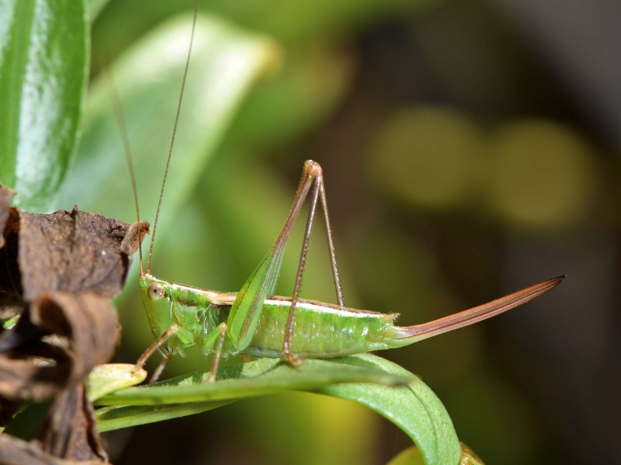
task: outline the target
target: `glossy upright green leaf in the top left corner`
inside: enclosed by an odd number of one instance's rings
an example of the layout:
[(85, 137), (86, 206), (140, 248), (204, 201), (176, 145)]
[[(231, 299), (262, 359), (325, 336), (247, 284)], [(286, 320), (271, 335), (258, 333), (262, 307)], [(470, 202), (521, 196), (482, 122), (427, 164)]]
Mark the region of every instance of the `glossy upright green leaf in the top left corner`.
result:
[(0, 3), (0, 182), (48, 211), (75, 154), (89, 69), (78, 0)]

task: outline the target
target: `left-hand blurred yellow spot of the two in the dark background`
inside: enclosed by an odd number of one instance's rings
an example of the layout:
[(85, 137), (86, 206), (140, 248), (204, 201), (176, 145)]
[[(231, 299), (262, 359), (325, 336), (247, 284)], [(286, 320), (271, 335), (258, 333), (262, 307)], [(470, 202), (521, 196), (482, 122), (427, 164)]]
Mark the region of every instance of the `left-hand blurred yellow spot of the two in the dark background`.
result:
[(369, 176), (415, 205), (446, 207), (463, 195), (478, 128), (460, 113), (421, 107), (394, 115), (371, 146)]

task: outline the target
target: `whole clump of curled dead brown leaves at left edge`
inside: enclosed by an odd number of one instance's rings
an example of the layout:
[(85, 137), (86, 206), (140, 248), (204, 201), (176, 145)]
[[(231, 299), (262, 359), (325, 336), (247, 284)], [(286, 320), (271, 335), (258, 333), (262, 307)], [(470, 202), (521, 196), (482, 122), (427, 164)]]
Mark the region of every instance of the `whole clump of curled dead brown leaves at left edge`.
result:
[[(0, 185), (0, 323), (9, 327), (21, 314), (11, 329), (0, 325), (0, 421), (13, 420), (20, 401), (55, 399), (42, 429), (48, 403), (31, 405), (42, 407), (37, 432), (23, 437), (41, 431), (41, 443), (0, 435), (0, 463), (101, 463), (106, 453), (83, 379), (114, 353), (120, 325), (110, 299), (125, 285), (149, 224), (75, 205), (28, 213), (9, 207), (13, 194)], [(32, 425), (25, 412), (15, 420)]]

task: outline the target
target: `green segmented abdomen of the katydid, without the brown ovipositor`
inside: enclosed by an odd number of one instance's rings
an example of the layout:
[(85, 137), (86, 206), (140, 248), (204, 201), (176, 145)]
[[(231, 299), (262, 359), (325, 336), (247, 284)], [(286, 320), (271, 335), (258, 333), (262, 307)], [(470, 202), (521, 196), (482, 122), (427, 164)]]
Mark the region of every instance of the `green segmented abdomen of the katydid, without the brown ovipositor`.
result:
[[(268, 298), (255, 333), (243, 352), (279, 356), (291, 301)], [(355, 311), (312, 301), (299, 301), (291, 334), (291, 352), (326, 358), (388, 348), (384, 335), (394, 315)]]

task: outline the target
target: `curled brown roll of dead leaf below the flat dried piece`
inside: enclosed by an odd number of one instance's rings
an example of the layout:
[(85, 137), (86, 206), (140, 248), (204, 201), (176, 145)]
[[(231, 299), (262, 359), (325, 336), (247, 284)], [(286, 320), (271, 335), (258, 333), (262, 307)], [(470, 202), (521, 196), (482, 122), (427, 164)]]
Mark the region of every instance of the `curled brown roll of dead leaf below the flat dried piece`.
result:
[(119, 329), (107, 298), (63, 292), (40, 296), (14, 328), (0, 335), (0, 396), (40, 401), (75, 386), (93, 366), (112, 357)]

